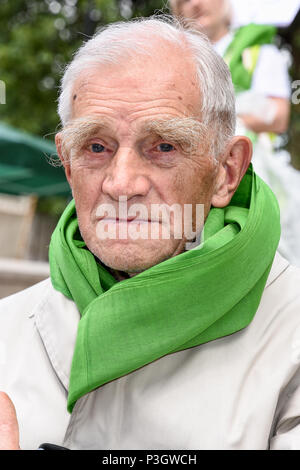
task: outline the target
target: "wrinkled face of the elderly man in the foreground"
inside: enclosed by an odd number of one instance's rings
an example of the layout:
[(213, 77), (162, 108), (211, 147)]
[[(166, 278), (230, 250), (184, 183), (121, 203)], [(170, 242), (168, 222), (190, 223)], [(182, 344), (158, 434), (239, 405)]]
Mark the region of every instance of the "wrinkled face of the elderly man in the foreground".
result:
[[(74, 122), (79, 134), (68, 143), (73, 152), (65, 168), (89, 250), (110, 268), (132, 274), (183, 252), (186, 238), (175, 238), (174, 220), (169, 239), (161, 232), (151, 238), (153, 224), (162, 229), (161, 220), (151, 217), (151, 208), (179, 204), (183, 209), (190, 204), (195, 212), (196, 204), (204, 204), (205, 217), (210, 210), (216, 165), (208, 149), (209, 136), (201, 138), (201, 97), (193, 65), (182, 52), (164, 47), (155, 52), (155, 60), (139, 57), (90, 69), (78, 78), (72, 98), (71, 127)], [(195, 117), (196, 140), (185, 127), (187, 118)], [(85, 132), (82, 121), (94, 125)], [(170, 122), (176, 123), (176, 132)], [(128, 211), (143, 204), (148, 218), (137, 213), (135, 220), (124, 220), (120, 197), (127, 199)], [(115, 208), (117, 220), (107, 214), (101, 218), (103, 204)], [(121, 228), (124, 233), (130, 225), (139, 229), (146, 224), (149, 237), (101, 239), (100, 220), (108, 230), (116, 227), (117, 234)]]

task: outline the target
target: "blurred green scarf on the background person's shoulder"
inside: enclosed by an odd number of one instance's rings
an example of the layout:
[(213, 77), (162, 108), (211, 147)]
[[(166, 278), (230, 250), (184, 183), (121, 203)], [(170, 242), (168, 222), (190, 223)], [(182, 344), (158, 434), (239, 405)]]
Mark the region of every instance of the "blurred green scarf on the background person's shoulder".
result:
[(248, 70), (243, 63), (243, 53), (246, 49), (272, 44), (276, 34), (276, 28), (270, 25), (260, 25), (250, 23), (239, 28), (233, 40), (228, 46), (224, 60), (227, 63), (234, 84), (235, 91), (241, 92), (249, 90), (251, 87), (252, 75), (255, 68)]

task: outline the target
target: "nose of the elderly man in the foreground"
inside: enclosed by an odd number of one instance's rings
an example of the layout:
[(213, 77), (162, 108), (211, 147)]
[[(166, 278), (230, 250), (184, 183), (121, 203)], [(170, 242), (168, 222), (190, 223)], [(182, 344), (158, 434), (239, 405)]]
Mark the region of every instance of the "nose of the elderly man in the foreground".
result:
[(131, 148), (120, 147), (111, 159), (102, 183), (102, 193), (118, 201), (120, 196), (131, 199), (145, 197), (151, 189), (145, 163)]

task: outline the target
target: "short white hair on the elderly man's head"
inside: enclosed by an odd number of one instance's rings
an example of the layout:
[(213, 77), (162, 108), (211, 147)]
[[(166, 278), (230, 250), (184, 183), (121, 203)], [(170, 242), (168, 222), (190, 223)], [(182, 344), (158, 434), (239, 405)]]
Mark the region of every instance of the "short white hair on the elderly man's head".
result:
[(71, 119), (73, 86), (83, 71), (101, 64), (118, 65), (128, 57), (153, 57), (157, 40), (181, 48), (184, 57), (187, 51), (190, 53), (201, 95), (199, 116), (204, 125), (215, 131), (212, 151), (214, 156), (219, 155), (227, 140), (234, 135), (236, 125), (229, 69), (203, 33), (186, 28), (180, 21), (166, 15), (110, 24), (79, 48), (61, 81), (58, 113), (62, 125)]

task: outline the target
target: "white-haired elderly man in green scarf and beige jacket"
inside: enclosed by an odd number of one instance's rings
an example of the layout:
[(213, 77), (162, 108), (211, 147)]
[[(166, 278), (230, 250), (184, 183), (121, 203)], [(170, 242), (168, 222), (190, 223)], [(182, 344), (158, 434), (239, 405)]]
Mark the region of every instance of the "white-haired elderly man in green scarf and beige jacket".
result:
[(300, 275), (223, 59), (169, 20), (113, 24), (59, 113), (74, 201), (51, 279), (1, 302), (2, 448), (8, 397), (24, 449), (299, 448)]

